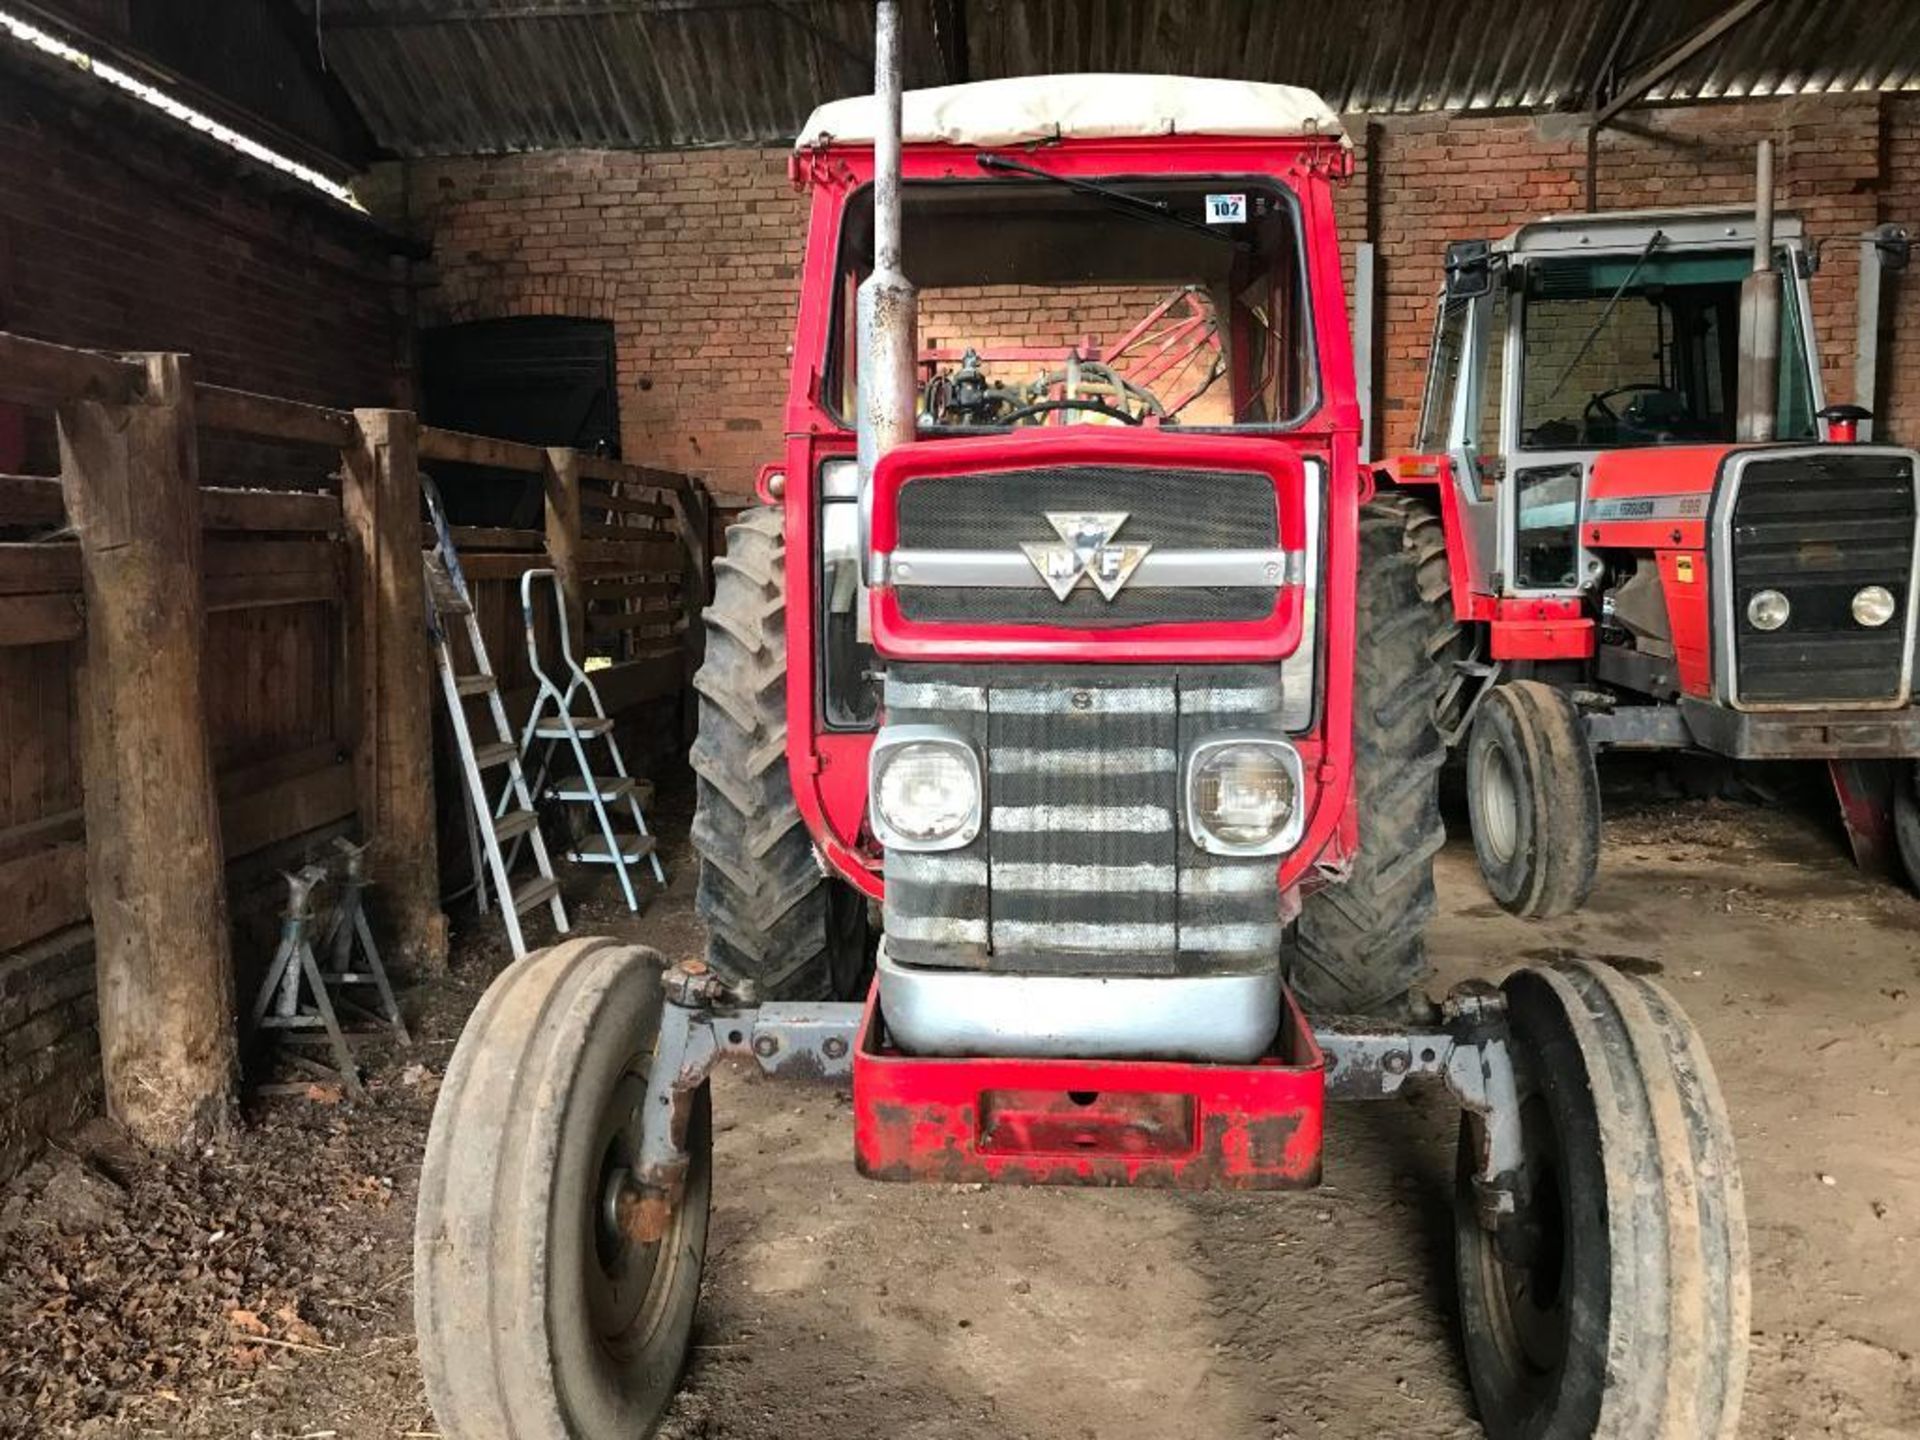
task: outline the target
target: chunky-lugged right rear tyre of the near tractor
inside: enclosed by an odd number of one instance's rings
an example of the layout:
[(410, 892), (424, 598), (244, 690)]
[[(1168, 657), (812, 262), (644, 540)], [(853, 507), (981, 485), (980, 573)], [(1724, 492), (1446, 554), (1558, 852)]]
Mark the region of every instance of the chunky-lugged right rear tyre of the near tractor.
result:
[(1308, 895), (1290, 983), (1313, 1014), (1404, 1014), (1425, 1004), (1446, 841), (1434, 705), (1459, 641), (1440, 518), (1413, 495), (1382, 492), (1361, 509), (1354, 611), (1359, 854), (1344, 883)]

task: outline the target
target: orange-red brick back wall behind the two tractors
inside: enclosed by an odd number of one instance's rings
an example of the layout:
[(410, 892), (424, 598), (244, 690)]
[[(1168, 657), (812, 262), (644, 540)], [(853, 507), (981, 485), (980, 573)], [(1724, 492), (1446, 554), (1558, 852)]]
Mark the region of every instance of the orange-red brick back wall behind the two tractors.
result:
[[(1747, 204), (1753, 142), (1778, 144), (1780, 204), (1822, 242), (1814, 309), (1828, 399), (1853, 397), (1857, 236), (1920, 223), (1920, 98), (1839, 96), (1630, 111), (1601, 138), (1607, 209)], [(1572, 117), (1356, 121), (1342, 238), (1377, 252), (1379, 449), (1419, 411), (1448, 240), (1580, 209)], [(806, 213), (780, 150), (574, 152), (436, 159), (388, 179), (434, 246), (422, 317), (607, 315), (618, 328), (630, 453), (745, 492), (780, 451)], [(912, 257), (908, 257), (908, 269)], [(1348, 265), (1352, 276), (1352, 265)], [(1882, 351), (1891, 434), (1920, 430), (1920, 273), (1893, 288)]]

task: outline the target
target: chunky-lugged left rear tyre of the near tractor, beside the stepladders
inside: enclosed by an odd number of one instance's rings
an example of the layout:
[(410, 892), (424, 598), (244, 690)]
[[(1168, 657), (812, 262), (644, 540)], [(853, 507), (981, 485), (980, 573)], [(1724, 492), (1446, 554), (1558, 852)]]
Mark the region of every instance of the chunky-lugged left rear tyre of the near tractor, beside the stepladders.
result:
[(707, 960), (762, 1000), (858, 998), (866, 899), (822, 874), (787, 776), (787, 541), (778, 509), (743, 511), (714, 561), (693, 774), (695, 908)]

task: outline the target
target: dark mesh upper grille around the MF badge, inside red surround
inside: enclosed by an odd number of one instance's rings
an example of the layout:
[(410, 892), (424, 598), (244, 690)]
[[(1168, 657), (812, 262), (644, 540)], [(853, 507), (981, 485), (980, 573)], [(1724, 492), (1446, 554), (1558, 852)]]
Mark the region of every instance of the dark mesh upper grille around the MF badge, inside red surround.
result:
[[(1156, 549), (1271, 549), (1279, 545), (1273, 480), (1246, 470), (1069, 465), (993, 474), (929, 476), (900, 490), (900, 549), (1018, 553), (1023, 540), (1058, 540), (1046, 513), (1123, 511), (1117, 540)], [(1252, 622), (1273, 612), (1273, 589), (1129, 586), (1112, 601), (1081, 586), (1050, 589), (899, 589), (900, 614), (922, 624), (1077, 626), (1110, 630), (1169, 622)]]

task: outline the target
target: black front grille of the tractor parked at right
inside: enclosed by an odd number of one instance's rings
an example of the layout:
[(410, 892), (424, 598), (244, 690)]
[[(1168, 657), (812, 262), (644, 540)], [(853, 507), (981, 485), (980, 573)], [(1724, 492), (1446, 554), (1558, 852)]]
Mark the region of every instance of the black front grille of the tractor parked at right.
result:
[[(1740, 705), (1901, 699), (1914, 568), (1914, 472), (1899, 453), (1797, 451), (1745, 465), (1732, 515), (1732, 643)], [(1855, 591), (1885, 586), (1899, 611), (1868, 630)], [(1747, 601), (1778, 589), (1791, 618), (1755, 630)]]

